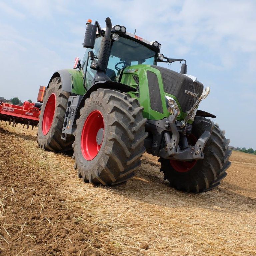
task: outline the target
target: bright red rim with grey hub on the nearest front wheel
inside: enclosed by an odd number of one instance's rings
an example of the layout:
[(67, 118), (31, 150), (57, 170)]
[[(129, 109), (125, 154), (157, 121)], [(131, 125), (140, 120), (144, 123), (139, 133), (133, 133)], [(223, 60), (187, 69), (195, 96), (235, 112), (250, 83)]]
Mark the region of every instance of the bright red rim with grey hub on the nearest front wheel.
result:
[[(102, 129), (102, 140), (97, 142), (97, 134)], [(86, 160), (91, 161), (99, 153), (104, 138), (104, 130), (104, 119), (101, 112), (92, 111), (85, 120), (81, 135), (81, 150)]]

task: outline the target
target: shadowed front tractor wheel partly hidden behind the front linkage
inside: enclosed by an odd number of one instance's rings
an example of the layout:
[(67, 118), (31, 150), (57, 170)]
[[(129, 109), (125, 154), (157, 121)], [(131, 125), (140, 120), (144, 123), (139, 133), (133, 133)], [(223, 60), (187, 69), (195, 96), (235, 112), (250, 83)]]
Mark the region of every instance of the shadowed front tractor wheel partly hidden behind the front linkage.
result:
[[(211, 125), (208, 119), (202, 121), (201, 118), (195, 118), (192, 134), (199, 138), (207, 125)], [(202, 160), (175, 163), (160, 158), (158, 161), (161, 163), (160, 171), (164, 173), (164, 179), (170, 182), (171, 187), (186, 192), (206, 192), (218, 186), (227, 175), (226, 170), (231, 164), (229, 157), (232, 151), (228, 149), (230, 140), (224, 134), (225, 131), (221, 131), (215, 124), (205, 145)]]

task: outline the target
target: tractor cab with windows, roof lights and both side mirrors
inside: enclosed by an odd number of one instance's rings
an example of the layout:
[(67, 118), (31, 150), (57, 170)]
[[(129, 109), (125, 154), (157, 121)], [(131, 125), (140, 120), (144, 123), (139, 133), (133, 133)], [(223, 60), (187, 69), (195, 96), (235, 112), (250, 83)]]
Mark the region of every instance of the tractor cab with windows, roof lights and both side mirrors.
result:
[[(88, 33), (87, 30), (85, 35), (85, 43), (83, 46), (87, 47), (87, 50), (81, 62), (81, 68), (85, 74), (84, 87), (87, 90), (95, 82), (94, 78), (99, 69), (105, 73), (105, 78), (113, 82), (121, 82), (123, 71), (127, 67), (135, 65), (151, 66), (157, 65), (157, 62), (170, 64), (174, 61), (185, 61), (181, 67), (181, 74), (186, 74), (186, 60), (170, 59), (160, 54), (161, 44), (157, 41), (149, 42), (135, 34), (126, 32), (125, 27), (115, 25), (111, 27), (112, 29), (109, 31), (109, 54), (107, 54), (106, 49), (105, 51), (101, 51), (102, 40), (106, 40), (106, 28), (101, 29), (97, 21), (95, 25), (92, 25), (90, 20), (87, 22), (87, 29), (88, 28), (91, 28), (91, 31)], [(97, 28), (97, 30), (95, 30), (95, 28)], [(86, 42), (88, 38), (90, 38), (90, 41)], [(97, 64), (99, 57), (104, 59), (104, 67), (100, 67)], [(99, 62), (102, 61), (100, 60)], [(101, 80), (103, 78), (104, 77), (101, 77)]]

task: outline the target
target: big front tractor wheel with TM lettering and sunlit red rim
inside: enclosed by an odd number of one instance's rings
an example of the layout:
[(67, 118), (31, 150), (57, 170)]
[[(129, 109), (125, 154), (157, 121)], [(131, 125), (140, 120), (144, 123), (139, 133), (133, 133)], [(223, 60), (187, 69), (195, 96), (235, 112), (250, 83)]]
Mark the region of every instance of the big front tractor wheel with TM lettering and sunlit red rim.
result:
[(143, 107), (110, 89), (92, 92), (80, 109), (74, 155), (78, 177), (95, 185), (116, 185), (134, 176), (146, 151)]

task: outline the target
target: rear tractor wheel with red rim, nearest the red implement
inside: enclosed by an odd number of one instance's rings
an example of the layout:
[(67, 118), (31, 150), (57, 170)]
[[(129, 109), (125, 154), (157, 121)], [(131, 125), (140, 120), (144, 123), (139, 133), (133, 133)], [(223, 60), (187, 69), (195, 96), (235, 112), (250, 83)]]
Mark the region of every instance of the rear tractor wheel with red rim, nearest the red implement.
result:
[(61, 78), (54, 78), (46, 90), (38, 123), (38, 145), (46, 150), (63, 152), (72, 149), (73, 135), (61, 139), (69, 92), (61, 89)]

